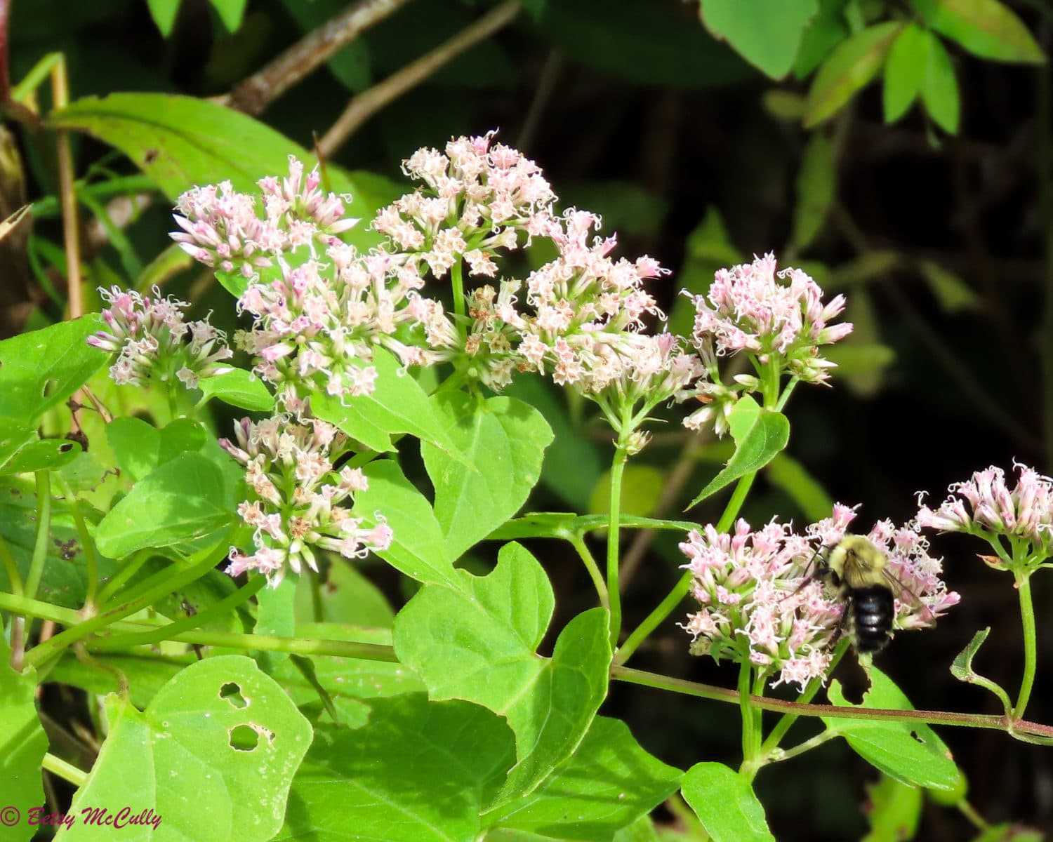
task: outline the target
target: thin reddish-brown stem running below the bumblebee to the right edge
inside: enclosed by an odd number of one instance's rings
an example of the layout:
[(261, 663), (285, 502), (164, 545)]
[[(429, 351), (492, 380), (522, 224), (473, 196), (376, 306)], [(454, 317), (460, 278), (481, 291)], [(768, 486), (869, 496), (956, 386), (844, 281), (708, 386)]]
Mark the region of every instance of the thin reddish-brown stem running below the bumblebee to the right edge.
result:
[[(628, 666), (612, 666), (611, 678), (625, 681), (630, 684), (640, 684), (644, 687), (682, 693), (700, 699), (713, 699), (719, 702), (738, 704), (738, 691), (727, 687), (714, 687), (710, 684), (699, 684), (680, 678), (670, 678), (656, 673), (645, 673)], [(1053, 725), (1042, 725), (1027, 720), (1012, 721), (1006, 717), (988, 714), (958, 714), (949, 710), (897, 710), (886, 707), (839, 707), (831, 704), (802, 704), (786, 702), (781, 699), (769, 699), (764, 696), (754, 696), (750, 700), (754, 706), (762, 710), (774, 710), (778, 714), (794, 714), (803, 717), (827, 717), (830, 719), (863, 719), (876, 722), (928, 722), (931, 725), (962, 725), (974, 728), (990, 728), (1004, 730), (1018, 739), (1027, 736), (1041, 741), (1053, 741)], [(1031, 742), (1032, 740), (1027, 740)]]

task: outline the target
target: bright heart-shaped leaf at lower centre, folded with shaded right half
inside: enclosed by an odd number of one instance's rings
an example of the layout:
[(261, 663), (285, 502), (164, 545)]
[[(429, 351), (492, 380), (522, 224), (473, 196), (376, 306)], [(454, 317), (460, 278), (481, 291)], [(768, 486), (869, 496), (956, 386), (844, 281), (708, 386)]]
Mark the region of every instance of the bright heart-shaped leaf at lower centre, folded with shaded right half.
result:
[(537, 647), (552, 619), (552, 585), (537, 560), (508, 544), (485, 577), (456, 570), (395, 618), (395, 651), (433, 699), (464, 699), (505, 717), (518, 763), (495, 806), (533, 791), (573, 754), (607, 695), (608, 615), (593, 608)]

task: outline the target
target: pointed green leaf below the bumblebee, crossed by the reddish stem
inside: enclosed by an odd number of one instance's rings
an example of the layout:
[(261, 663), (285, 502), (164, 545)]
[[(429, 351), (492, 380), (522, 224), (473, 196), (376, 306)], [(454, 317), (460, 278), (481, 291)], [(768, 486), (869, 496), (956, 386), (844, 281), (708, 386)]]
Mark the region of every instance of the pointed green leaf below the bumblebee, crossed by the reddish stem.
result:
[[(838, 706), (914, 709), (903, 691), (877, 667), (871, 666), (868, 674), (871, 686), (862, 704), (850, 705), (837, 681), (830, 683), (827, 694), (830, 701)], [(839, 717), (823, 717), (822, 721), (827, 730), (843, 737), (863, 760), (897, 781), (930, 789), (951, 789), (961, 777), (951, 750), (925, 722), (907, 719), (878, 722)]]

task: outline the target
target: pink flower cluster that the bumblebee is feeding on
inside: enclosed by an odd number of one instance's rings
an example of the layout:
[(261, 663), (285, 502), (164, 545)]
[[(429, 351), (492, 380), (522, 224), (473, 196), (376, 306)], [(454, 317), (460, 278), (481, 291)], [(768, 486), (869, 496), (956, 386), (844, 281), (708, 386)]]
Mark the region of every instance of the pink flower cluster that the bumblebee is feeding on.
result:
[[(775, 521), (754, 532), (741, 519), (733, 535), (712, 525), (690, 532), (680, 552), (692, 574), (691, 593), (701, 605), (682, 624), (693, 639), (692, 654), (778, 671), (775, 684), (795, 683), (802, 690), (812, 679), (824, 679), (845, 604), (811, 574), (816, 554), (843, 538), (854, 517), (851, 508), (837, 505), (833, 517), (806, 535)], [(958, 602), (939, 579), (939, 560), (928, 555), (916, 532), (882, 521), (867, 537), (887, 554), (887, 569), (905, 589), (896, 600), (896, 628), (931, 625)]]

